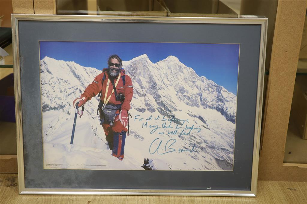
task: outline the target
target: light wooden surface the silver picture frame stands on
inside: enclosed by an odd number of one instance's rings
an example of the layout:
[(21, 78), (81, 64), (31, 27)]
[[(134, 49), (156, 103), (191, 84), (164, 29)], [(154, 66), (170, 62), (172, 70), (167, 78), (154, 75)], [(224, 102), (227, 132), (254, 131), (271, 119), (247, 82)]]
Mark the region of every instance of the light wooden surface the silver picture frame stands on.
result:
[(307, 203), (307, 182), (258, 181), (257, 197), (136, 196), (136, 195), (19, 195), (18, 175), (0, 174), (0, 203)]

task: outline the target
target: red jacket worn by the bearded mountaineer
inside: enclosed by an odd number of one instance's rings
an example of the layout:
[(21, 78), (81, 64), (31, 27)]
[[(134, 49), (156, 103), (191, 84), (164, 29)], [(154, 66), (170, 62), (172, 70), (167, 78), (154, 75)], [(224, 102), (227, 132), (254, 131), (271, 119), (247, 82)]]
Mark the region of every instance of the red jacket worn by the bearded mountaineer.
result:
[[(122, 69), (121, 72), (120, 72), (120, 75), (121, 76), (126, 75), (125, 73), (126, 73), (126, 71), (124, 69)], [(102, 84), (102, 79), (103, 79), (104, 74), (106, 75), (106, 78), (104, 79), (103, 84)], [(116, 83), (117, 78), (118, 78), (118, 76), (114, 79), (114, 83)], [(104, 96), (106, 94), (106, 87), (107, 87), (108, 79), (109, 79), (108, 68), (105, 68), (105, 69), (102, 70), (102, 73), (99, 74), (98, 76), (96, 76), (94, 81), (86, 87), (84, 93), (81, 94), (81, 98), (85, 97), (86, 101), (89, 101), (89, 100), (91, 100), (92, 97), (96, 96), (101, 91), (100, 100), (103, 102)], [(112, 93), (112, 90), (113, 90), (113, 86), (112, 86), (112, 83), (110, 81), (110, 85), (109, 85), (108, 93), (107, 93), (107, 98)], [(133, 87), (132, 87), (132, 81), (131, 81), (130, 76), (128, 76), (128, 75), (125, 76), (125, 87), (123, 86), (122, 79), (119, 79), (119, 82), (116, 86), (116, 91), (117, 91), (117, 94), (125, 95), (125, 100), (122, 103), (122, 109), (126, 109), (126, 111), (129, 111), (130, 110), (130, 102), (131, 102), (132, 96), (133, 96)], [(115, 92), (113, 92), (110, 100), (107, 103), (114, 104), (114, 105), (121, 104), (120, 101), (115, 100)]]

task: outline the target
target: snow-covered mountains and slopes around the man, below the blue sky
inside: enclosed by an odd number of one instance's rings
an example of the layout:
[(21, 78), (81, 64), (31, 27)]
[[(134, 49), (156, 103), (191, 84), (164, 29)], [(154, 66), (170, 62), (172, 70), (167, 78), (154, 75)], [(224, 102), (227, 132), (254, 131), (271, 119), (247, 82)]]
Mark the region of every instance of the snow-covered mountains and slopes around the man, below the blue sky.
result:
[(49, 57), (41, 60), (45, 169), (232, 170), (236, 96), (176, 57), (153, 64), (146, 54), (123, 61), (134, 95), (124, 160), (111, 156), (93, 97), (76, 121), (80, 97), (100, 70)]

